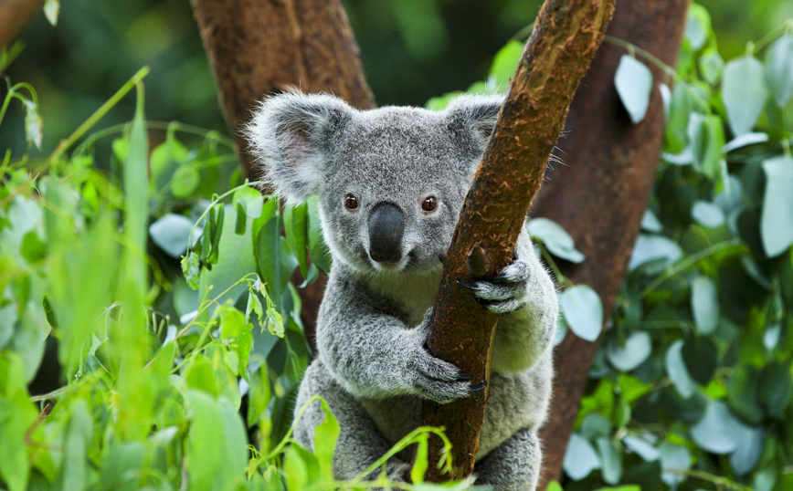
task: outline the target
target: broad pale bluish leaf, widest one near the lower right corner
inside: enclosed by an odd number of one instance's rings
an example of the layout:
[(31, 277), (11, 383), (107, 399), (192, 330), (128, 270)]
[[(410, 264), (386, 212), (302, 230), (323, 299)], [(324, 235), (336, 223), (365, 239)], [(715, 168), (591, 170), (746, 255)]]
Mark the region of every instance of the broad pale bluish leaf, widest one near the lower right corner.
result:
[(730, 413), (724, 402), (708, 403), (703, 419), (691, 428), (694, 442), (713, 454), (731, 454), (741, 442), (746, 426)]

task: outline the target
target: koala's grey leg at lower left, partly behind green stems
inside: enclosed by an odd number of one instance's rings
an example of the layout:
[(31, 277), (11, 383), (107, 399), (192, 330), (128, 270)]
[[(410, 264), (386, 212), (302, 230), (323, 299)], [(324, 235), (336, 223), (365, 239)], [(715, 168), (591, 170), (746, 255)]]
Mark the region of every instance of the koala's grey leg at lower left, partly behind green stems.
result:
[[(363, 406), (333, 379), (321, 360), (314, 360), (306, 371), (298, 393), (295, 416), (314, 395), (320, 395), (328, 402), (341, 428), (333, 455), (333, 475), (337, 479), (352, 479), (361, 474), (391, 448)], [(295, 439), (312, 449), (314, 427), (324, 419), (321, 402), (312, 402), (295, 427)], [(407, 463), (394, 457), (386, 464), (386, 474), (392, 479), (404, 480), (408, 468)], [(366, 479), (375, 479), (380, 472), (378, 468)]]

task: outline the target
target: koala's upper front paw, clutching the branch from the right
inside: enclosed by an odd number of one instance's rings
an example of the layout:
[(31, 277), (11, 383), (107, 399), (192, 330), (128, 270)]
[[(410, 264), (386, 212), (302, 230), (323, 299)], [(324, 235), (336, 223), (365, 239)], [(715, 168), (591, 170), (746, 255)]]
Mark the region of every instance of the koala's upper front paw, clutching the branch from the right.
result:
[(457, 280), (461, 287), (473, 291), (473, 299), (496, 314), (509, 314), (528, 303), (528, 283), (531, 269), (528, 263), (515, 260), (495, 277), (483, 278), (474, 283)]

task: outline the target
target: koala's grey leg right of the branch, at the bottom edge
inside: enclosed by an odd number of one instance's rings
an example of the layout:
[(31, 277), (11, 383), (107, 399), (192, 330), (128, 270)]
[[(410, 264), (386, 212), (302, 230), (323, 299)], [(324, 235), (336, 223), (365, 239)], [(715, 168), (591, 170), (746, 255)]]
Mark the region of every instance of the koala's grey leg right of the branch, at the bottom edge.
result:
[(474, 465), (475, 484), (491, 485), (494, 491), (534, 491), (542, 461), (536, 431), (523, 428)]

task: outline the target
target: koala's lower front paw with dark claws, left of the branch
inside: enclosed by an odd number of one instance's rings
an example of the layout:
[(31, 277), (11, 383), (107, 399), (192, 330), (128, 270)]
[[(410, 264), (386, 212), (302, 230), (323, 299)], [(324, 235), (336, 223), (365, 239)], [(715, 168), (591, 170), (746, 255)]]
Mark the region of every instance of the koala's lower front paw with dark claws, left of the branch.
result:
[(423, 344), (422, 340), (421, 346), (410, 357), (408, 367), (411, 385), (417, 395), (446, 404), (487, 387), (486, 381), (471, 381), (471, 375), (429, 354)]

